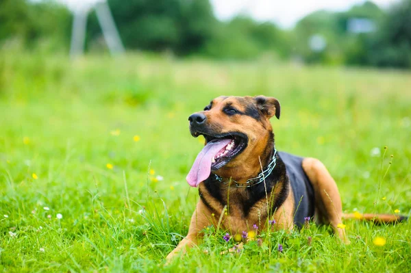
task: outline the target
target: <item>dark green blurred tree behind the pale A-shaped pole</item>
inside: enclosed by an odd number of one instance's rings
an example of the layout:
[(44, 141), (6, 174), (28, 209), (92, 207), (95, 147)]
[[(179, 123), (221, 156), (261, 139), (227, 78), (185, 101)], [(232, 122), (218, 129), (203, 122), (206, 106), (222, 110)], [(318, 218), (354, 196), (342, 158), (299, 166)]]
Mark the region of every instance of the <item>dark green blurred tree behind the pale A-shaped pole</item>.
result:
[[(197, 52), (213, 35), (216, 19), (208, 0), (109, 0), (127, 49)], [(88, 40), (101, 36), (92, 15)]]

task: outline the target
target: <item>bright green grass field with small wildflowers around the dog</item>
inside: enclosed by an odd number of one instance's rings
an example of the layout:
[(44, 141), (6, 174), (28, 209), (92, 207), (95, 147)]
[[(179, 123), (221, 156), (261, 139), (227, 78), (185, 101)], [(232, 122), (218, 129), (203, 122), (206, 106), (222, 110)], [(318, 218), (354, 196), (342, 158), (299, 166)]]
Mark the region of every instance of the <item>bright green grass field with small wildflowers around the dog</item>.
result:
[(347, 246), (314, 224), (263, 233), (238, 255), (210, 228), (164, 265), (199, 198), (187, 118), (221, 94), (279, 99), (277, 148), (321, 159), (345, 212), (410, 214), (409, 72), (2, 52), (0, 271), (410, 271), (410, 222), (347, 221)]

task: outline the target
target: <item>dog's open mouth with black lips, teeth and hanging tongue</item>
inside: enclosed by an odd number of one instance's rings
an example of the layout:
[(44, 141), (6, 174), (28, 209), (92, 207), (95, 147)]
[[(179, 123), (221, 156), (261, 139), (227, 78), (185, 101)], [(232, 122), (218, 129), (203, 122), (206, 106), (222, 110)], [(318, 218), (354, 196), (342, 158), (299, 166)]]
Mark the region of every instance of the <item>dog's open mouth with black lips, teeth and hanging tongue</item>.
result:
[(186, 179), (192, 187), (210, 176), (211, 170), (218, 170), (234, 159), (247, 147), (248, 138), (244, 133), (232, 132), (218, 135), (210, 135), (201, 132), (192, 134), (197, 137), (203, 135), (206, 138), (206, 146), (197, 155)]

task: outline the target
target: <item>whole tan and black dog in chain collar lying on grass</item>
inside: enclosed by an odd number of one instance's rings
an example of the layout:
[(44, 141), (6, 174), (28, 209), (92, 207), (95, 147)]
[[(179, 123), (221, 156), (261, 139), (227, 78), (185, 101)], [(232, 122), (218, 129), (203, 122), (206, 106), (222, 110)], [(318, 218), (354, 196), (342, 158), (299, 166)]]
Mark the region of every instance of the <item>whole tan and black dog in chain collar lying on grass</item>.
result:
[[(277, 151), (270, 118), (280, 104), (266, 96), (219, 96), (192, 114), (190, 133), (206, 140), (186, 180), (199, 188), (188, 235), (166, 257), (195, 246), (207, 226), (231, 234), (301, 227), (306, 220), (329, 224), (345, 244), (343, 218), (376, 222), (404, 220), (394, 215), (343, 214), (336, 182), (319, 159)], [(275, 222), (275, 224), (273, 224)]]

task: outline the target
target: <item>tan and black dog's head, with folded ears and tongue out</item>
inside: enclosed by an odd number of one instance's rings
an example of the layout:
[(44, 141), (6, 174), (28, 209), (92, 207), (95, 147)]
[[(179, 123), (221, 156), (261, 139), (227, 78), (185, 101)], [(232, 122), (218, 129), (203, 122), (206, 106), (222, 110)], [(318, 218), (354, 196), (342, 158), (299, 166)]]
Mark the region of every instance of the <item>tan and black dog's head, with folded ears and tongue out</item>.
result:
[(266, 147), (273, 142), (269, 119), (279, 118), (279, 113), (279, 102), (271, 97), (219, 96), (203, 111), (192, 114), (188, 118), (190, 133), (203, 135), (206, 146), (197, 155), (188, 183), (197, 186), (211, 171), (238, 179), (234, 174), (244, 172), (245, 165), (251, 172), (258, 171), (260, 160), (264, 164), (266, 159)]

